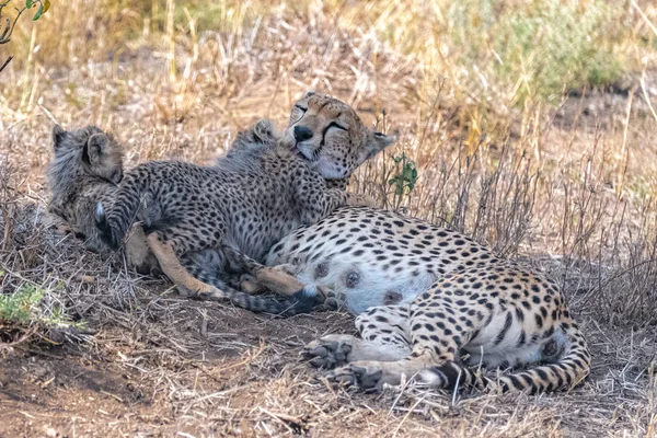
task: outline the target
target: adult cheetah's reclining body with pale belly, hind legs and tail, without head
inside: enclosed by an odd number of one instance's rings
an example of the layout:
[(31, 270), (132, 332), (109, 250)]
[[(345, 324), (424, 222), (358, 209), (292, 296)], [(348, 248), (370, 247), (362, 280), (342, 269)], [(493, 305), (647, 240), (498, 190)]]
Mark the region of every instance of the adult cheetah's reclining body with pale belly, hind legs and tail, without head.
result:
[[(445, 388), (538, 392), (589, 373), (586, 342), (557, 285), (459, 232), (341, 208), (284, 238), (266, 264), (296, 266), (301, 283), (332, 290), (360, 314), (360, 339), (330, 335), (303, 350), (310, 364), (331, 369), (331, 380), (372, 389), (406, 374)], [(492, 379), (461, 364), (544, 365)]]

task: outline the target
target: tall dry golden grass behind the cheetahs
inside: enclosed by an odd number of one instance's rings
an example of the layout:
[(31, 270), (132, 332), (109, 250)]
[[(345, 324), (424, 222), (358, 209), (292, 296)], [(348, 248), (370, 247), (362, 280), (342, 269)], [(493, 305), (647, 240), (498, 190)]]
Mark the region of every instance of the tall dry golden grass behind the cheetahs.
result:
[[(132, 163), (207, 161), (318, 89), (400, 135), (353, 189), (552, 254), (602, 320), (653, 324), (656, 22), (649, 1), (72, 0), (1, 48), (1, 153), (43, 200), (54, 120), (112, 128)], [(390, 184), (402, 152), (410, 193)]]

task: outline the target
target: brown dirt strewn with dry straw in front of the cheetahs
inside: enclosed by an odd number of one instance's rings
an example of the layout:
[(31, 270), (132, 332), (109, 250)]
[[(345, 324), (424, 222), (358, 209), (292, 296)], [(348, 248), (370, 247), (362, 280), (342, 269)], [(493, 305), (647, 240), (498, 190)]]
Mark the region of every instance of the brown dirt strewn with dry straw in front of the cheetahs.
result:
[[(62, 251), (82, 257), (79, 244), (69, 243)], [(103, 266), (94, 256), (91, 262)], [(593, 371), (570, 393), (406, 387), (360, 394), (327, 387), (298, 359), (300, 347), (318, 336), (353, 333), (350, 315), (270, 319), (181, 299), (170, 285), (145, 279), (135, 281), (129, 307), (117, 308), (103, 293), (130, 280), (110, 284), (91, 274), (69, 295), (88, 306), (83, 328), (50, 331), (0, 351), (1, 437), (655, 434), (655, 327), (610, 333), (575, 308)]]

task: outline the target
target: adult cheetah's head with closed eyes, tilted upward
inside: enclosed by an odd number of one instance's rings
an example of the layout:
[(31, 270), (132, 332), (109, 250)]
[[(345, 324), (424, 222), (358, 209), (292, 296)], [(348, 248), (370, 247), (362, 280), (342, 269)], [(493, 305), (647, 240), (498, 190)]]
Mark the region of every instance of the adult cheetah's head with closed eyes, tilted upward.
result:
[(295, 103), (281, 141), (310, 161), (324, 178), (343, 178), (396, 138), (366, 128), (344, 102), (308, 92)]

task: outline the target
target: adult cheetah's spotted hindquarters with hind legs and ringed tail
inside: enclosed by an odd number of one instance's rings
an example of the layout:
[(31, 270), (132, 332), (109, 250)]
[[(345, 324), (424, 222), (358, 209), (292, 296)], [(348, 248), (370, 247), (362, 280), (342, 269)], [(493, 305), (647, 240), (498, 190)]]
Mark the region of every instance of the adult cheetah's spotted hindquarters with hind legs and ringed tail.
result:
[[(369, 309), (356, 320), (360, 338), (330, 335), (303, 351), (331, 369), (327, 378), (380, 389), (402, 376), (453, 390), (538, 393), (573, 388), (590, 355), (557, 286), (512, 263), (457, 272), (411, 304)], [(488, 374), (493, 368), (527, 369)]]

